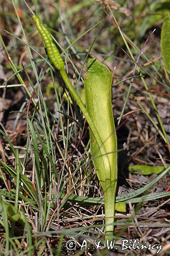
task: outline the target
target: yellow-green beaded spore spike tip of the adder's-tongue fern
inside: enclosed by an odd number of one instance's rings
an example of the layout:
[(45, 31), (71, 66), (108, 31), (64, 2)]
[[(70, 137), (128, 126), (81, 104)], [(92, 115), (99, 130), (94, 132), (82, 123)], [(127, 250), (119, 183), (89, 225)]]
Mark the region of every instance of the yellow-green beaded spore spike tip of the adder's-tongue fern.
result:
[(56, 45), (53, 43), (53, 38), (50, 32), (43, 26), (40, 19), (36, 15), (33, 15), (32, 18), (35, 22), (37, 30), (39, 31), (44, 41), (49, 59), (51, 60), (53, 65), (56, 67), (56, 69), (58, 70), (64, 69), (64, 61)]

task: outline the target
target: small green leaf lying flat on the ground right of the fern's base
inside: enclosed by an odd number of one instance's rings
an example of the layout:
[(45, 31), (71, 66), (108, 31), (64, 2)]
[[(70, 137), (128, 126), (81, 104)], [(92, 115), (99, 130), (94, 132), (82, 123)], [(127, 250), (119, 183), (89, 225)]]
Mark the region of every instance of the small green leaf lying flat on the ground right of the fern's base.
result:
[(150, 165), (131, 165), (128, 167), (129, 173), (137, 174), (139, 171), (139, 173), (142, 175), (160, 174), (163, 172), (164, 168), (165, 168), (164, 166), (150, 166)]

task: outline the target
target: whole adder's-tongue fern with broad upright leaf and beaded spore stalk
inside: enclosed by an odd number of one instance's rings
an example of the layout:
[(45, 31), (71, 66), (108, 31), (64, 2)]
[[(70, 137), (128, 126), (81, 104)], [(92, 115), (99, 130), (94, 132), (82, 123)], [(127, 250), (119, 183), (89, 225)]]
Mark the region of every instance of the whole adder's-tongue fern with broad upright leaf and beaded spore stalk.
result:
[(48, 30), (39, 18), (33, 20), (44, 41), (47, 54), (60, 74), (90, 127), (90, 148), (96, 173), (104, 191), (105, 238), (110, 238), (114, 230), (115, 191), (117, 185), (117, 139), (111, 103), (111, 73), (100, 61), (88, 62), (85, 76), (86, 107), (72, 86), (64, 70), (64, 61), (53, 43)]

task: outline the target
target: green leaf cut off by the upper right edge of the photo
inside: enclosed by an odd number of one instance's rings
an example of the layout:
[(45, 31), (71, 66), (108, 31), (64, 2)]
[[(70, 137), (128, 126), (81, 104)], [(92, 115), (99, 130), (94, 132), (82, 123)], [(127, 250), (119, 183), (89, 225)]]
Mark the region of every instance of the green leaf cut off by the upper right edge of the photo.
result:
[(164, 22), (161, 30), (161, 54), (163, 58), (163, 62), (165, 64), (167, 72), (170, 72), (170, 13), (164, 17)]

